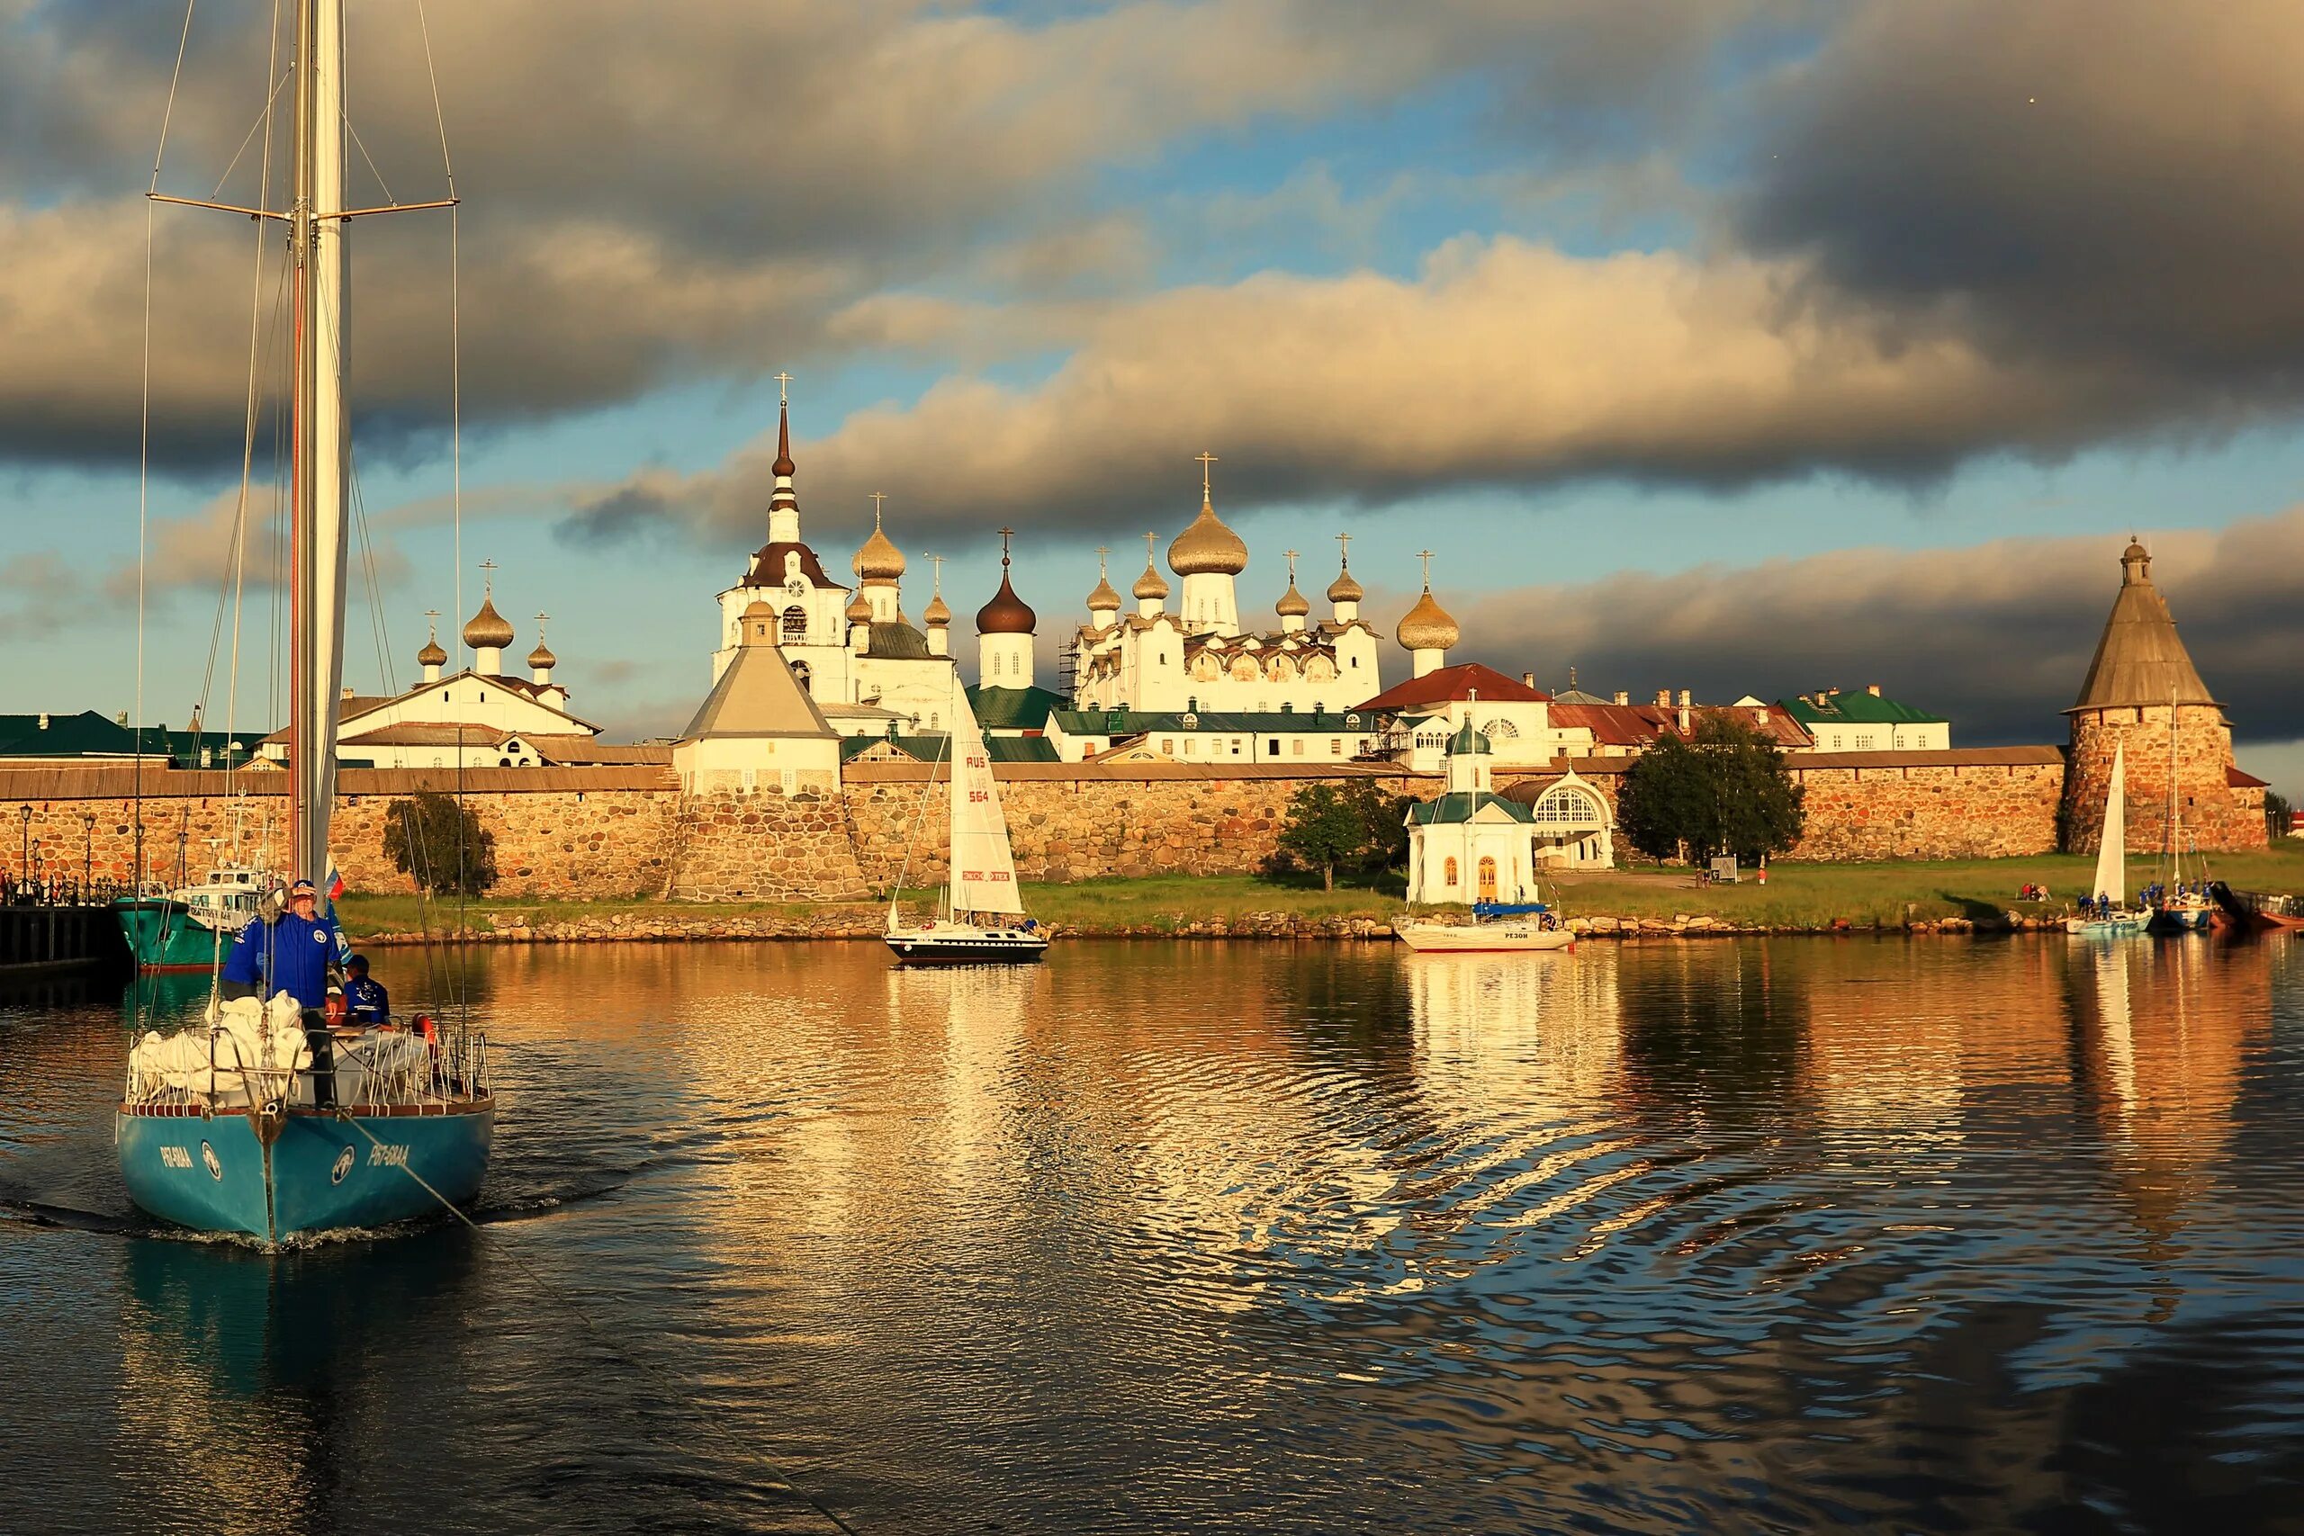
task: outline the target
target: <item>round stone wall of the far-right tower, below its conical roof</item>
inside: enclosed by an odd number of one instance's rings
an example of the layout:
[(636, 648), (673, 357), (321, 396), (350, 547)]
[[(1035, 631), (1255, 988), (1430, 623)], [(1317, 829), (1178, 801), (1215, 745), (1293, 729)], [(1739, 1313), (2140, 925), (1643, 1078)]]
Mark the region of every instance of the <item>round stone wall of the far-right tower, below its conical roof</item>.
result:
[(2104, 841), (2104, 794), (2113, 755), (2127, 746), (2129, 852), (2168, 841), (2168, 746), (2175, 714), (2175, 783), (2184, 797), (2184, 841), (2207, 850), (2265, 847), (2263, 790), (2235, 790), (2233, 728), (2214, 705), (2087, 709), (2071, 716), (2071, 776), (2064, 785), (2064, 845), (2092, 854)]

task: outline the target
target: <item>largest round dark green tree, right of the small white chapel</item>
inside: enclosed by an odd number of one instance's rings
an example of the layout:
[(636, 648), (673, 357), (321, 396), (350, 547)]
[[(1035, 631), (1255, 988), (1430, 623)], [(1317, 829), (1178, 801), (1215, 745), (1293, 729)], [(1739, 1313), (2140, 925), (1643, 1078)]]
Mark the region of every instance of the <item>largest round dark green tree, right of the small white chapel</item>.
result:
[(1652, 859), (1756, 861), (1799, 841), (1802, 790), (1783, 753), (1742, 718), (1705, 714), (1689, 739), (1663, 737), (1624, 774), (1615, 824)]

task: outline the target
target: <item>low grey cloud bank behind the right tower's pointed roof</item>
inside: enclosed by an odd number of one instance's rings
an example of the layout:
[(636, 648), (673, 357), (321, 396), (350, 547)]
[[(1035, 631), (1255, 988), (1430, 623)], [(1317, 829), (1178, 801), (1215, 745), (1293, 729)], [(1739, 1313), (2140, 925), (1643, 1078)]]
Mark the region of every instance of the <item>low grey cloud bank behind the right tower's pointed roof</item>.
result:
[[(1954, 744), (2062, 742), (2060, 714), (2120, 590), (2124, 539), (1857, 548), (1744, 569), (1622, 573), (1456, 608), (1465, 659), (1634, 702), (1882, 689), (1951, 718)], [(2152, 578), (2239, 742), (2304, 737), (2304, 509), (2154, 539)]]

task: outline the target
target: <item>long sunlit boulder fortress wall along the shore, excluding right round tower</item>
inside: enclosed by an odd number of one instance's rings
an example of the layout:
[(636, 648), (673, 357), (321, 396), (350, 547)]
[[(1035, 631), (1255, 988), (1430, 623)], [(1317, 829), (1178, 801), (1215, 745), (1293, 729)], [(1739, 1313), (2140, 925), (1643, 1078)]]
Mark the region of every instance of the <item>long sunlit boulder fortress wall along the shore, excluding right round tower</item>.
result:
[[(1613, 801), (1629, 765), (1576, 767)], [(998, 771), (1018, 875), (1060, 882), (1256, 870), (1279, 843), (1288, 801), (1311, 781), (1440, 790), (1438, 776), (1364, 765), (1018, 762)], [(2057, 843), (2064, 767), (2055, 748), (1834, 753), (1795, 760), (1795, 771), (1809, 792), (1797, 859), (2014, 857)], [(2131, 755), (2131, 794), (2134, 774)], [(654, 767), (475, 769), (461, 792), (495, 834), (500, 896), (857, 900), (885, 891), (899, 870), (915, 887), (945, 877), (945, 794), (924, 797), (926, 776), (924, 765), (850, 765), (839, 794), (786, 797), (776, 788), (682, 794)], [(456, 781), (454, 771), (346, 769), (334, 834), (346, 880), (408, 891), (382, 852), (385, 808), (415, 790), (456, 792)], [(283, 861), (286, 778), (242, 774), (233, 788), (240, 799), (228, 799), (223, 774), (145, 771), (143, 843), (154, 877), (175, 877), (180, 847), (196, 877), (235, 818), (244, 847), (270, 843), (272, 861)], [(14, 829), (18, 845), (39, 843), (48, 873), (76, 877), (85, 847), (94, 877), (127, 880), (136, 806), (129, 769), (0, 771), (0, 864), (18, 864), (5, 836)]]

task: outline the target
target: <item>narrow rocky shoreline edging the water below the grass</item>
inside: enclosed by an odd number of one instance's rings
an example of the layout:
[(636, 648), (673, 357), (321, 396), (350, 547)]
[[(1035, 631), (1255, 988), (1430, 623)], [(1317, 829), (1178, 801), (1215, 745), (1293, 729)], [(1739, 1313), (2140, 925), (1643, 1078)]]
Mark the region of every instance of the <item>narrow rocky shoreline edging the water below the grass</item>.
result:
[[(484, 917), (482, 926), (468, 928), (470, 944), (710, 944), (728, 940), (878, 940), (887, 919), (880, 907), (846, 907), (804, 914), (758, 914), (758, 917), (677, 917), (617, 912), (611, 917), (583, 917), (567, 921), (528, 921), (518, 914)], [(1668, 921), (1657, 917), (1574, 917), (1569, 930), (1592, 940), (1696, 940), (1696, 937), (1760, 937), (1760, 935), (1848, 935), (1848, 933), (2034, 933), (2060, 930), (2062, 917), (2023, 917), (2002, 912), (1993, 917), (1942, 917), (1912, 919), (1905, 923), (1811, 923), (1811, 926), (1760, 926), (1735, 923), (1721, 917), (1677, 912)], [(1369, 917), (1311, 919), (1290, 912), (1249, 912), (1242, 917), (1212, 917), (1198, 921), (1157, 923), (1111, 923), (1111, 926), (1048, 926), (1048, 933), (1078, 940), (1364, 940), (1389, 942), (1392, 923)], [(424, 944), (445, 935), (424, 933), (373, 933), (357, 940), (369, 949), (399, 944)]]

